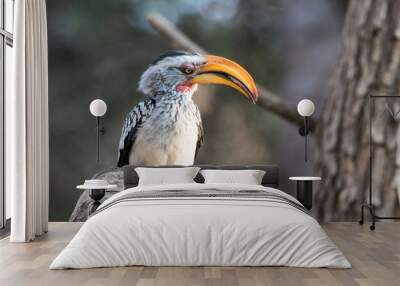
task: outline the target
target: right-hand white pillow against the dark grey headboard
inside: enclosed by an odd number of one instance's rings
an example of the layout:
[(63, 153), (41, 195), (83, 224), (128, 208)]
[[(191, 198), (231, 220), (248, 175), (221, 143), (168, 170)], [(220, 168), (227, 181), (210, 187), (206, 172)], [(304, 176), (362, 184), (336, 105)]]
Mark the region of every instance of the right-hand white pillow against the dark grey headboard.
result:
[(204, 183), (261, 185), (265, 171), (262, 170), (201, 170)]

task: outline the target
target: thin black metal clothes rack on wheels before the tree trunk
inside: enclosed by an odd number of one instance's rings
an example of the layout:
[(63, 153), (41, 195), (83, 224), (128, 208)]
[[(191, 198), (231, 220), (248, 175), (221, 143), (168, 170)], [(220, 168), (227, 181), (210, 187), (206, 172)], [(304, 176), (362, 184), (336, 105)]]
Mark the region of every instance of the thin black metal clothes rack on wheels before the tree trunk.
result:
[[(387, 99), (387, 98), (397, 98), (400, 99), (400, 96), (396, 95), (370, 95), (368, 98), (369, 104), (369, 188), (368, 188), (368, 202), (364, 202), (361, 205), (361, 219), (359, 223), (362, 225), (364, 223), (364, 209), (367, 208), (369, 213), (371, 214), (372, 223), (369, 226), (370, 230), (375, 229), (375, 221), (377, 219), (385, 220), (385, 219), (400, 219), (400, 217), (383, 217), (377, 216), (375, 214), (375, 206), (372, 202), (372, 166), (373, 166), (373, 150), (372, 150), (372, 101), (379, 99)], [(392, 114), (394, 116), (394, 114)]]

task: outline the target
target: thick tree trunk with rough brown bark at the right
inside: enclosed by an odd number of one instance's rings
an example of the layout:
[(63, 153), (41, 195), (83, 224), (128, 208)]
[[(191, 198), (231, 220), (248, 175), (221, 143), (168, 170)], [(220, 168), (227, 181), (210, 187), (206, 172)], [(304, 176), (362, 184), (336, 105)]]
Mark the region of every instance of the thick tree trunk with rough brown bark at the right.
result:
[[(315, 134), (315, 167), (322, 177), (316, 193), (318, 218), (349, 219), (360, 215), (369, 187), (368, 95), (400, 95), (399, 63), (400, 1), (351, 1), (342, 54)], [(382, 117), (388, 111), (385, 101), (379, 99), (372, 105), (373, 122), (379, 119), (372, 132), (373, 203), (378, 214), (398, 215), (400, 121)], [(396, 115), (400, 99), (393, 109)]]

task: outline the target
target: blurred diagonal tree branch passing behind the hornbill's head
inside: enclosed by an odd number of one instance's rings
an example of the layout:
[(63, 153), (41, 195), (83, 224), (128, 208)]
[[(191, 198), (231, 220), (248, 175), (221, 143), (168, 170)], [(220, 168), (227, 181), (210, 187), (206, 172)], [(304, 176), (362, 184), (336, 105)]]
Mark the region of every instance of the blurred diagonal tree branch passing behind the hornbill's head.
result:
[[(176, 49), (183, 49), (200, 54), (207, 54), (207, 51), (193, 42), (189, 37), (182, 33), (173, 23), (159, 14), (150, 14), (147, 16), (150, 25), (162, 37), (170, 42), (171, 46)], [(297, 113), (296, 108), (289, 106), (279, 96), (269, 91), (267, 88), (257, 84), (258, 101), (257, 105), (268, 110), (279, 117), (286, 119), (290, 123), (303, 126), (303, 118)], [(310, 118), (310, 130), (314, 130), (315, 121)]]

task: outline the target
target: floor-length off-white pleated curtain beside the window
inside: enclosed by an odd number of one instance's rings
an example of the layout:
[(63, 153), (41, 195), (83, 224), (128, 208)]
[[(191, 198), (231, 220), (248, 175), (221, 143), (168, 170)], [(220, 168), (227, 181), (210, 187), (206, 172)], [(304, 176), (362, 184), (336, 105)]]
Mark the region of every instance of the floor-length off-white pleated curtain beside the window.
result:
[(12, 242), (47, 231), (49, 190), (45, 0), (15, 1), (14, 91), (6, 98), (6, 186)]

